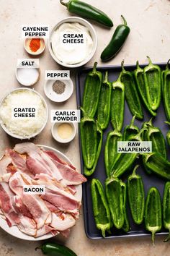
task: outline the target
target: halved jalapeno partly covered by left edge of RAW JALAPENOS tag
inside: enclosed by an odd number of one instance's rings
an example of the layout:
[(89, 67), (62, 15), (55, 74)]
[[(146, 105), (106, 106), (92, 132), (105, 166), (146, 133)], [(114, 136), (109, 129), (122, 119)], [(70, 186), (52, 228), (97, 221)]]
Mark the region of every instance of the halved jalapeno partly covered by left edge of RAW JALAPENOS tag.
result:
[(117, 153), (117, 141), (119, 140), (122, 140), (122, 134), (118, 132), (117, 129), (108, 132), (104, 148), (104, 163), (107, 176), (110, 175), (112, 168), (114, 168), (114, 164), (120, 157), (120, 153)]

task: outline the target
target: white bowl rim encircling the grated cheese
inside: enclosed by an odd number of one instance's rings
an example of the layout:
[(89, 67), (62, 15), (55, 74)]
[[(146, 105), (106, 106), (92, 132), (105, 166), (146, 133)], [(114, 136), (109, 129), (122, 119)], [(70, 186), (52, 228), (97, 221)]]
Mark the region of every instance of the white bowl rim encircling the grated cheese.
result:
[(32, 91), (33, 93), (36, 93), (37, 95), (39, 95), (39, 97), (40, 97), (41, 100), (42, 100), (43, 105), (45, 106), (46, 118), (45, 118), (44, 124), (42, 125), (42, 127), (40, 128), (39, 131), (35, 132), (34, 134), (32, 134), (32, 135), (30, 135), (30, 136), (28, 136), (28, 137), (22, 137), (22, 136), (19, 136), (19, 135), (14, 135), (12, 132), (9, 131), (9, 129), (5, 126), (4, 122), (0, 119), (0, 125), (1, 125), (1, 128), (4, 129), (4, 132), (6, 132), (8, 135), (10, 135), (10, 136), (12, 136), (12, 137), (14, 137), (14, 138), (16, 138), (16, 139), (27, 140), (27, 139), (30, 139), (30, 138), (32, 138), (32, 137), (35, 137), (35, 136), (39, 135), (40, 132), (42, 132), (42, 130), (45, 128), (45, 125), (46, 125), (47, 122), (48, 122), (48, 105), (47, 105), (47, 103), (45, 102), (45, 99), (42, 98), (42, 95), (40, 95), (40, 93), (37, 93), (37, 91), (32, 90), (32, 89), (30, 89), (30, 88), (17, 88), (17, 89), (12, 90), (10, 93), (6, 94), (6, 96), (5, 96), (5, 97), (1, 100), (1, 102), (0, 102), (0, 106), (1, 106), (1, 104), (3, 103), (3, 101), (6, 99), (6, 97), (7, 97), (8, 95), (10, 95), (11, 93), (14, 93), (14, 92), (17, 91), (17, 90), (28, 90), (28, 91)]

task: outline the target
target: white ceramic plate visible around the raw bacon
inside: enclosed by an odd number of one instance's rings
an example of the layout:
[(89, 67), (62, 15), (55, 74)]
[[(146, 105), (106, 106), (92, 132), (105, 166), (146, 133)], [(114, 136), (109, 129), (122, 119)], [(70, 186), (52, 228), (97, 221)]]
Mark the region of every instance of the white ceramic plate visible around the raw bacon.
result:
[[(58, 157), (63, 159), (63, 161), (66, 161), (67, 163), (73, 164), (71, 163), (71, 161), (66, 157), (66, 155), (64, 155), (63, 153), (61, 153), (60, 151), (54, 149), (54, 148), (50, 148), (48, 146), (44, 146), (44, 145), (38, 145), (40, 148), (44, 148), (45, 150), (51, 150), (55, 153), (58, 154)], [(81, 185), (76, 186), (76, 198), (78, 200), (81, 200), (82, 197), (82, 188)], [(28, 236), (27, 234), (22, 233), (21, 231), (19, 231), (19, 229), (17, 228), (17, 226), (12, 226), (11, 228), (9, 228), (8, 224), (6, 223), (6, 221), (4, 220), (3, 216), (1, 216), (0, 219), (0, 227), (1, 229), (4, 229), (4, 231), (6, 231), (8, 234), (15, 236), (19, 239), (23, 239), (23, 240), (28, 240), (28, 241), (40, 241), (40, 240), (45, 240), (45, 239), (49, 239), (55, 235), (49, 233), (49, 234), (45, 234), (44, 236), (40, 236), (40, 237), (33, 237), (33, 236)]]

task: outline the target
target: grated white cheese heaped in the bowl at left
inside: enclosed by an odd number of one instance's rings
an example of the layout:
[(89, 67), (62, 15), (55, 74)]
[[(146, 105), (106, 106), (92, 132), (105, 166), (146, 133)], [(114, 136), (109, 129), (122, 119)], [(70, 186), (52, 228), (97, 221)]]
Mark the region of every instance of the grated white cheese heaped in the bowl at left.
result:
[[(14, 106), (35, 106), (37, 108), (36, 119), (12, 119)], [(10, 93), (0, 106), (0, 119), (6, 129), (19, 137), (32, 137), (42, 129), (46, 122), (47, 109), (42, 98), (31, 90), (15, 90)]]

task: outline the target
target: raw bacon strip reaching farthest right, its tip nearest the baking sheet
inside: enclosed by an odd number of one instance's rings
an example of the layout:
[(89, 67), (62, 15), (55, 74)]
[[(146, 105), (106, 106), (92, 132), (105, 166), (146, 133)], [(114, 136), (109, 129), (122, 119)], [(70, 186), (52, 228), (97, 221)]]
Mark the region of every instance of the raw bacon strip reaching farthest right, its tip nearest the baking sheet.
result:
[[(49, 153), (45, 153), (49, 154)], [(63, 164), (61, 161), (57, 161), (56, 158), (51, 158), (50, 159), (55, 163), (55, 166), (58, 168), (58, 171), (60, 171), (61, 176), (66, 182), (66, 185), (78, 185), (83, 182), (86, 182), (86, 178), (82, 175), (79, 174), (78, 171), (73, 170), (68, 164)]]

